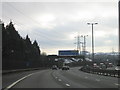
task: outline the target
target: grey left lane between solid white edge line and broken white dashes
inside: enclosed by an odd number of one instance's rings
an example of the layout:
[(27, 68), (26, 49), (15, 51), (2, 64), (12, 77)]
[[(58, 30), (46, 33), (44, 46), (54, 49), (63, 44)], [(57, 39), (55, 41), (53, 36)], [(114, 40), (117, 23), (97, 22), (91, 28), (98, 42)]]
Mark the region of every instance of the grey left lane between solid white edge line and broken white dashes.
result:
[(53, 70), (43, 70), (16, 84), (13, 88), (65, 88), (52, 75)]

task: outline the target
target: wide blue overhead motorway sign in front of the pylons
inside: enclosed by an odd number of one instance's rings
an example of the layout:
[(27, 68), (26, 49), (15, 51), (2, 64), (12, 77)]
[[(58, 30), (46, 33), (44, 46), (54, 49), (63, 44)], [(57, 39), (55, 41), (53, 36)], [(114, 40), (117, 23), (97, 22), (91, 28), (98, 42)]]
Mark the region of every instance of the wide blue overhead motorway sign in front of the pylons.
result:
[(77, 56), (79, 55), (78, 50), (59, 50), (58, 51), (59, 56)]

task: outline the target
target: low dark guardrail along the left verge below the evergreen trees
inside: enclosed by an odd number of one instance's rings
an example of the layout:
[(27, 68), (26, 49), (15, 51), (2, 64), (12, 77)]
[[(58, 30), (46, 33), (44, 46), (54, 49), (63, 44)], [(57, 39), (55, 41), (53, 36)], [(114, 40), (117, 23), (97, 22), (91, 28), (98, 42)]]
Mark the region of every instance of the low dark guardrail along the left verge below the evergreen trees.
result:
[(27, 69), (16, 69), (16, 70), (3, 70), (2, 74), (18, 73), (18, 72), (33, 71), (33, 70), (43, 70), (43, 69), (48, 69), (48, 68), (40, 67), (40, 68), (27, 68)]

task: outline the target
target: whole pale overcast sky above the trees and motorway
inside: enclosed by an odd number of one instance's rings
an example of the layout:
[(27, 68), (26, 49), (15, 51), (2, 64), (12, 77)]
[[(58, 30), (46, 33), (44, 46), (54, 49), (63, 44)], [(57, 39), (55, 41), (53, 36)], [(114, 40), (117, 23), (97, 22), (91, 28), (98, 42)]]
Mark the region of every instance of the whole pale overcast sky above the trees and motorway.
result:
[[(89, 0), (88, 0), (89, 1)], [(37, 40), (42, 52), (76, 49), (75, 37), (86, 37), (91, 52), (91, 25), (94, 25), (95, 52), (118, 50), (118, 4), (113, 2), (2, 2), (3, 22), (10, 19), (16, 30), (31, 41)], [(83, 41), (83, 38), (81, 38)]]

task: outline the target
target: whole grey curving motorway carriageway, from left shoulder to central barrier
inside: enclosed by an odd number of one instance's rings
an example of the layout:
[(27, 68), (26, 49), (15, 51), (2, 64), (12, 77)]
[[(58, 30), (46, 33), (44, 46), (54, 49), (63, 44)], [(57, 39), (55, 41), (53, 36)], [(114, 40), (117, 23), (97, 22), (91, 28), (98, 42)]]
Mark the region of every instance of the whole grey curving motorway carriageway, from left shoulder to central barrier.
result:
[[(3, 76), (3, 87), (9, 88), (118, 88), (118, 78), (100, 76), (79, 71), (80, 67), (70, 70), (38, 70), (23, 77)], [(13, 77), (12, 77), (13, 76)], [(17, 75), (16, 75), (17, 76)], [(20, 74), (19, 74), (20, 76)], [(11, 79), (10, 79), (11, 77)], [(9, 79), (8, 79), (9, 78)], [(7, 82), (10, 80), (11, 82)], [(12, 81), (14, 80), (14, 82)]]

